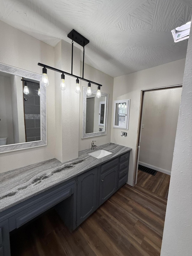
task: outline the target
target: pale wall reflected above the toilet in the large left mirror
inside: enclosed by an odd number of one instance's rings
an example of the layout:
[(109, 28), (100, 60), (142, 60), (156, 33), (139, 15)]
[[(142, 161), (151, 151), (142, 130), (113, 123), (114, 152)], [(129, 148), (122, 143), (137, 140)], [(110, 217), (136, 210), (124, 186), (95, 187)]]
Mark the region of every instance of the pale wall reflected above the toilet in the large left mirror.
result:
[(0, 92), (0, 137), (7, 137), (7, 144), (12, 144), (13, 120), (10, 77), (0, 76)]

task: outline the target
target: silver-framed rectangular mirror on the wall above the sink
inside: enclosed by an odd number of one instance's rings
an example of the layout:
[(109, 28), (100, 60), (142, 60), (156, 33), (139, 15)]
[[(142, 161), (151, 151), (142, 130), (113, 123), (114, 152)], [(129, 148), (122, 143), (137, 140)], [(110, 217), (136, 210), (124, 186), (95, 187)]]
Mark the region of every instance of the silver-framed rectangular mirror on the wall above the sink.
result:
[(97, 98), (96, 90), (87, 96), (87, 88), (82, 89), (82, 139), (107, 134), (108, 93), (101, 92)]

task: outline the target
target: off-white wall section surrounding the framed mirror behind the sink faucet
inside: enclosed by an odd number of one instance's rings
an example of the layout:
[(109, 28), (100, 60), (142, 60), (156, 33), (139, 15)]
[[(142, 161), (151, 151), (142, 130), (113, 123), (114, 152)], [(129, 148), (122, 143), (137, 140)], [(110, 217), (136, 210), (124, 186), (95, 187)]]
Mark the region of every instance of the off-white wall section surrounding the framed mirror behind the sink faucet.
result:
[[(80, 75), (82, 76), (82, 63)], [(89, 65), (84, 65), (84, 78), (90, 79), (96, 83), (102, 84), (101, 92), (109, 93), (108, 101), (108, 117), (107, 117), (107, 134), (102, 136), (90, 137), (81, 139), (82, 128), (82, 86), (87, 87), (88, 83), (80, 80), (80, 98), (79, 98), (79, 151), (83, 149), (91, 148), (92, 140), (96, 140), (95, 145), (103, 145), (111, 142), (111, 119), (112, 119), (112, 105), (113, 105), (113, 77), (92, 68)], [(91, 88), (97, 90), (98, 86), (91, 84)]]

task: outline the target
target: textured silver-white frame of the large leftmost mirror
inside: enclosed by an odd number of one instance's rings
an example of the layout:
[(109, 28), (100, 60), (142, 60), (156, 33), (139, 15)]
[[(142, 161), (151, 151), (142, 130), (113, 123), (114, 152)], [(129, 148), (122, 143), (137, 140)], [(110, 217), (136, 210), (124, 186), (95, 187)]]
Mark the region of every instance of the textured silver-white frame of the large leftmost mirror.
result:
[(9, 73), (12, 75), (17, 75), (24, 78), (33, 79), (39, 81), (40, 90), (41, 90), (41, 99), (40, 99), (40, 113), (41, 113), (41, 140), (32, 141), (32, 142), (23, 142), (16, 144), (9, 144), (0, 146), (0, 153), (10, 152), (20, 149), (29, 149), (39, 146), (47, 145), (47, 131), (46, 131), (46, 87), (41, 86), (42, 75), (36, 74), (24, 69), (15, 68), (6, 64), (0, 63), (0, 71)]

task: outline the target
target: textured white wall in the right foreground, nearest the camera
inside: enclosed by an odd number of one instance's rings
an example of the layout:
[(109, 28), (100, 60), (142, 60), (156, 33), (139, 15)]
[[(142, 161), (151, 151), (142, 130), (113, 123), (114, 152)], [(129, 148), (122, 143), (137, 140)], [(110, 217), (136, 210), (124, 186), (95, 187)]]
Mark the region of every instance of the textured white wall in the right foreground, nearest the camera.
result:
[(189, 38), (179, 109), (161, 256), (192, 252), (192, 34)]

